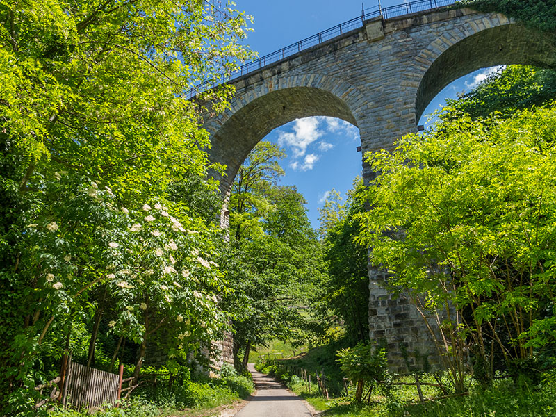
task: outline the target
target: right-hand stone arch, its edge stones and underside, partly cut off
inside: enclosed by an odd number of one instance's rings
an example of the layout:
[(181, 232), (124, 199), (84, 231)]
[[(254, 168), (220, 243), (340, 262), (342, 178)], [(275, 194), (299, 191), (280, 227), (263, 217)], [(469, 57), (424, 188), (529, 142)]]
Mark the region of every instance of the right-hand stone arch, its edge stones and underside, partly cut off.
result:
[(554, 39), (492, 14), (450, 31), (414, 58), (411, 70), (422, 74), (415, 99), (416, 120), (443, 88), (461, 76), (496, 65), (556, 67)]

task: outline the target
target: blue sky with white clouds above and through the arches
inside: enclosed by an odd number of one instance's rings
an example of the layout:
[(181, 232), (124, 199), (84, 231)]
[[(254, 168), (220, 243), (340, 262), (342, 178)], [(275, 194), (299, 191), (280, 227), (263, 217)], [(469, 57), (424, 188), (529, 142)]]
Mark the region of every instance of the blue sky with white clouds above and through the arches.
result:
[[(236, 8), (254, 17), (245, 44), (259, 56), (308, 38), (327, 28), (361, 15), (359, 0), (235, 0)], [(403, 0), (382, 0), (382, 6), (395, 6)], [(365, 1), (365, 8), (377, 6), (377, 0)], [(425, 110), (420, 124), (440, 108), (446, 98), (473, 88), (496, 69), (483, 69), (468, 74), (448, 85)], [(352, 181), (361, 175), (359, 131), (343, 120), (331, 117), (307, 117), (279, 126), (264, 140), (275, 142), (288, 154), (281, 162), (286, 175), (283, 185), (295, 185), (305, 196), (309, 219), (318, 227), (318, 208), (333, 188), (343, 195)]]

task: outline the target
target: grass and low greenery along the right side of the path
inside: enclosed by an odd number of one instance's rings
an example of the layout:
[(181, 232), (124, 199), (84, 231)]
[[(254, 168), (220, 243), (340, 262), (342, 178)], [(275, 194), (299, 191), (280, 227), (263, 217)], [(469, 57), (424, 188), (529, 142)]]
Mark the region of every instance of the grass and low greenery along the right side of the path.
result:
[[(301, 357), (280, 360), (280, 363), (311, 371), (324, 368), (325, 374), (341, 381), (341, 373), (335, 361), (337, 346), (332, 343), (317, 347)], [(272, 368), (271, 368), (272, 369)], [(280, 371), (277, 371), (281, 376)], [(423, 395), (430, 400), (421, 403), (415, 386), (392, 386), (386, 392), (375, 388), (370, 404), (352, 404), (354, 388), (350, 393), (343, 388), (332, 391), (326, 400), (312, 384), (308, 392), (304, 382), (297, 377), (284, 375), (282, 379), (297, 395), (315, 409), (325, 411), (326, 417), (556, 417), (556, 372), (543, 375), (538, 386), (516, 384), (512, 379), (498, 379), (491, 387), (484, 387), (470, 377), (468, 395), (440, 398), (443, 393), (434, 386), (422, 386)], [(314, 381), (314, 379), (313, 379)], [(411, 376), (397, 377), (396, 382), (414, 382)], [(422, 382), (436, 382), (432, 375), (421, 377)], [(292, 383), (293, 382), (293, 383)]]

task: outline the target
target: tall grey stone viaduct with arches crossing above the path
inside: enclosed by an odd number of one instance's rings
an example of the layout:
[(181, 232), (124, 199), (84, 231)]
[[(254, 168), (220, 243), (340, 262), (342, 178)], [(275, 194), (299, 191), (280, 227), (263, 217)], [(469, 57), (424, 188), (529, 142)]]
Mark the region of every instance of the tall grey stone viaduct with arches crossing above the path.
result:
[[(229, 193), (254, 145), (282, 124), (300, 117), (338, 117), (359, 128), (363, 155), (392, 149), (397, 138), (418, 131), (425, 107), (446, 85), (505, 64), (555, 67), (555, 42), (504, 15), (435, 8), (369, 19), (361, 28), (234, 79), (229, 111), (204, 120), (211, 158), (227, 166), (219, 178), (222, 193)], [(363, 178), (368, 182), (373, 175), (363, 162)], [(383, 271), (370, 268), (369, 277), (370, 339), (386, 340), (393, 370), (404, 368), (395, 354), (400, 343), (434, 358), (416, 309), (384, 290)]]

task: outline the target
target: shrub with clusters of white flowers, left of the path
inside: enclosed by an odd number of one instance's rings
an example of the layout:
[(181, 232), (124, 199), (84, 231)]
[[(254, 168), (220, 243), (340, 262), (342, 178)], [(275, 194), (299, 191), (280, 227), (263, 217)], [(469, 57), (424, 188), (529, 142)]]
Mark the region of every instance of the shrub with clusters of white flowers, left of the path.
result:
[[(101, 302), (108, 331), (140, 344), (140, 359), (147, 341), (163, 338), (167, 351), (177, 354), (217, 338), (228, 318), (217, 305), (227, 289), (212, 261), (215, 230), (180, 204), (126, 208), (108, 187), (56, 174), (44, 193), (72, 198), (28, 212), (34, 217), (22, 231), (19, 262), (25, 268), (17, 279), (32, 291), (23, 311), (39, 313), (28, 319), (14, 352), (39, 352), (49, 334), (65, 332), (73, 315), (91, 320)], [(94, 296), (103, 292), (101, 300)], [(49, 354), (64, 348), (52, 343)], [(140, 366), (141, 360), (137, 372)]]

